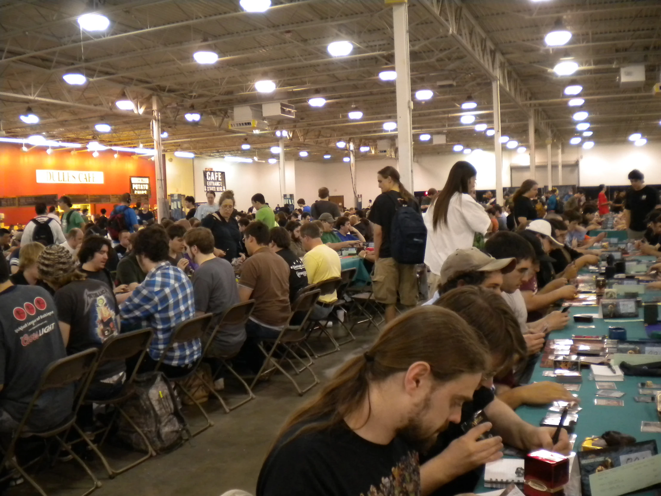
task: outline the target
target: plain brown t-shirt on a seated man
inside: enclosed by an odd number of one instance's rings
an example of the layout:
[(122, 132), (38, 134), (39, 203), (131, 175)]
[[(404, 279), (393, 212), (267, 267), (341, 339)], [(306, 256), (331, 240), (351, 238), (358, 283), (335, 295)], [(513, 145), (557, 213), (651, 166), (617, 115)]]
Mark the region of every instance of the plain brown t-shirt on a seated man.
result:
[(289, 265), (268, 247), (260, 248), (241, 268), (239, 286), (253, 290), (251, 319), (266, 327), (286, 325), (290, 312)]

